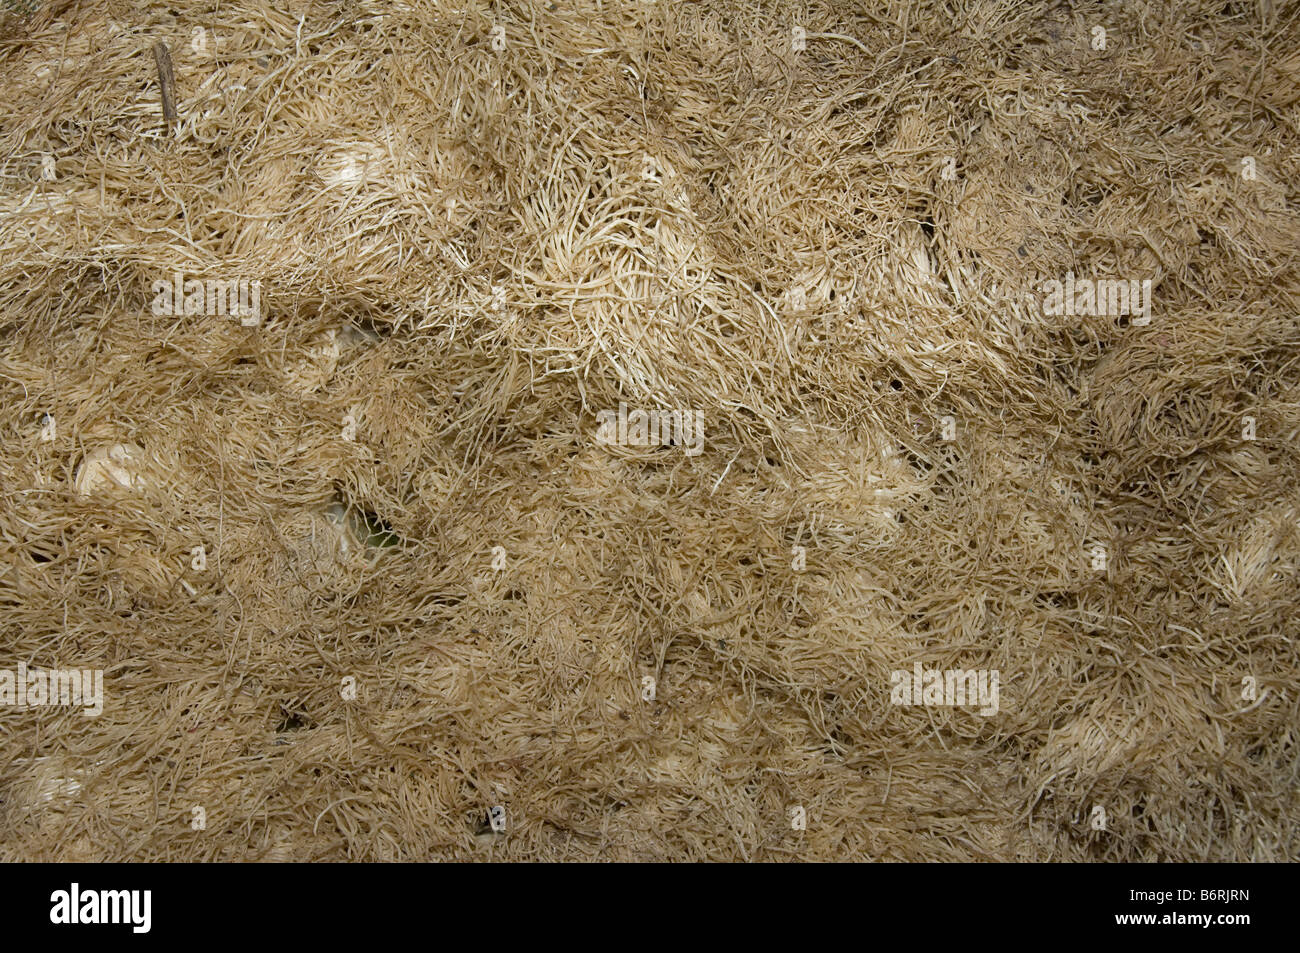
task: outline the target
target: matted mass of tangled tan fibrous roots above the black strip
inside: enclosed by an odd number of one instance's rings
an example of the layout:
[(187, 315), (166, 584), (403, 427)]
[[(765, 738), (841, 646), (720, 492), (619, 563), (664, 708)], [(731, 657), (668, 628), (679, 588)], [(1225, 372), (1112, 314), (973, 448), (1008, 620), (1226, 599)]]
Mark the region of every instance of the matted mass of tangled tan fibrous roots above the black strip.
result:
[(1296, 4), (0, 16), (0, 857), (1297, 858)]

